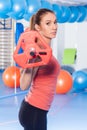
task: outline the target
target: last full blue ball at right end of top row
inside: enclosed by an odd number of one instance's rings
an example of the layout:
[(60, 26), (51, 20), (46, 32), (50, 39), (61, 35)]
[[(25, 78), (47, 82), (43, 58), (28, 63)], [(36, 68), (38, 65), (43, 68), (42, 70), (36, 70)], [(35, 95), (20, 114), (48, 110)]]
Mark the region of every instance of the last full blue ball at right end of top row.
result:
[(79, 10), (77, 22), (83, 22), (86, 19), (87, 9), (85, 6), (78, 6), (77, 8)]

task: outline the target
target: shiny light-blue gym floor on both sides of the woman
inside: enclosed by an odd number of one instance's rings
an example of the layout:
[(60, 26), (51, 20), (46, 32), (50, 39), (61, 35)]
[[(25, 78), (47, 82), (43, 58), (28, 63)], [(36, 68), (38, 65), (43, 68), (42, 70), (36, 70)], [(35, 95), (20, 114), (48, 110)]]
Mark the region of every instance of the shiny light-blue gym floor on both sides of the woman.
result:
[[(0, 72), (0, 130), (23, 130), (18, 111), (26, 93), (6, 87)], [(56, 94), (48, 113), (48, 130), (87, 130), (87, 92)]]

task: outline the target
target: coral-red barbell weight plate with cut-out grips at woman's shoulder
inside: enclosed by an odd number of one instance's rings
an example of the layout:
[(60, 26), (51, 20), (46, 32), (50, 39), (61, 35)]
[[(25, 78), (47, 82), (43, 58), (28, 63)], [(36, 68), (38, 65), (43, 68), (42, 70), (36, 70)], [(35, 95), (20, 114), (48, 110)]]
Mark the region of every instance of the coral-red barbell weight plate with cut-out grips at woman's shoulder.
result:
[[(39, 40), (39, 42), (37, 42)], [(22, 48), (23, 53), (18, 54)], [(15, 62), (22, 68), (31, 68), (41, 65), (46, 65), (52, 55), (52, 49), (42, 39), (37, 31), (28, 31), (21, 34), (19, 42), (14, 51), (13, 58)], [(29, 60), (34, 57), (40, 57), (40, 61), (29, 63)]]

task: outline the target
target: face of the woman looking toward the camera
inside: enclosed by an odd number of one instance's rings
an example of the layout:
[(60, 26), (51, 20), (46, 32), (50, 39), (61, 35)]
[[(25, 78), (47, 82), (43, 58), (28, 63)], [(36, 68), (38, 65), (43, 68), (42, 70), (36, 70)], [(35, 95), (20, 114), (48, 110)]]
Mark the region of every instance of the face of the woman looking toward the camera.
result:
[(53, 13), (47, 13), (43, 15), (40, 25), (38, 26), (38, 31), (46, 40), (51, 40), (55, 38), (57, 33), (57, 20)]

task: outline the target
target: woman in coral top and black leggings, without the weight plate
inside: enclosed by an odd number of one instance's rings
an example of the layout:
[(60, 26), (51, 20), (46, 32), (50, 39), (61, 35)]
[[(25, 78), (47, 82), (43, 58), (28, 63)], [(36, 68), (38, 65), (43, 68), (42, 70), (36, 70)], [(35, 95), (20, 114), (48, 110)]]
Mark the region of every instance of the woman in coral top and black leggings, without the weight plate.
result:
[[(36, 30), (50, 46), (57, 33), (57, 21), (53, 11), (40, 9), (30, 22), (30, 30)], [(34, 59), (40, 60), (39, 57)], [(32, 61), (34, 62), (34, 61)], [(20, 87), (27, 89), (19, 111), (24, 130), (47, 130), (47, 113), (53, 101), (60, 65), (52, 55), (47, 65), (22, 70)]]

